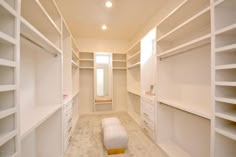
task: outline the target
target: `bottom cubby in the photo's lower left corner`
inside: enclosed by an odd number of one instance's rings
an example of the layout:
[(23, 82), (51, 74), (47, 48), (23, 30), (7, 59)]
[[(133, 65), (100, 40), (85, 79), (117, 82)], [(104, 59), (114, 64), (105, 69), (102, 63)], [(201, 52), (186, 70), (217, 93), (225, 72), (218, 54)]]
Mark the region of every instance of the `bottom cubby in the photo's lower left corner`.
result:
[(0, 146), (0, 157), (12, 157), (16, 154), (16, 138), (10, 139), (7, 143)]

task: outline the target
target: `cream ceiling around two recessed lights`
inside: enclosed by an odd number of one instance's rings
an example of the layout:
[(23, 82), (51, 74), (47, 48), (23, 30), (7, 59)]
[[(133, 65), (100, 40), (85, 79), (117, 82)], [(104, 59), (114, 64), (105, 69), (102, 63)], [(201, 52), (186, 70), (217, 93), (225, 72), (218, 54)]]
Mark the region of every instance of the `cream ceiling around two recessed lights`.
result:
[[(76, 38), (130, 40), (160, 9), (164, 0), (56, 0)], [(102, 24), (108, 29), (101, 30)]]

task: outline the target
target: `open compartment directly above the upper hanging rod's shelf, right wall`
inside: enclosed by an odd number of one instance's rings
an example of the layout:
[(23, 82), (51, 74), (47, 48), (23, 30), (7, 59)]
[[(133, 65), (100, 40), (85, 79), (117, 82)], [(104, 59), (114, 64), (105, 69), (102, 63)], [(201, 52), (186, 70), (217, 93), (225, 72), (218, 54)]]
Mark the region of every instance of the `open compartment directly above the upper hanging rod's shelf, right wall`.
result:
[(208, 34), (210, 34), (210, 10), (183, 26), (182, 29), (157, 40), (158, 54)]

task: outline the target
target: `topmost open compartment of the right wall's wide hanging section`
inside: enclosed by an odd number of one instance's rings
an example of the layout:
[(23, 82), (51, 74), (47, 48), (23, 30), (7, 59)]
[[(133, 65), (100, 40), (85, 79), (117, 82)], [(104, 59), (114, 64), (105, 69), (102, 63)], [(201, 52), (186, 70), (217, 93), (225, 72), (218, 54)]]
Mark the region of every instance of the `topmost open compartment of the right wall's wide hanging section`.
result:
[[(171, 13), (158, 25), (157, 37), (160, 39), (177, 26), (183, 24), (200, 11), (210, 6), (209, 0), (187, 0), (183, 1), (174, 13)], [(186, 13), (187, 12), (187, 13)]]

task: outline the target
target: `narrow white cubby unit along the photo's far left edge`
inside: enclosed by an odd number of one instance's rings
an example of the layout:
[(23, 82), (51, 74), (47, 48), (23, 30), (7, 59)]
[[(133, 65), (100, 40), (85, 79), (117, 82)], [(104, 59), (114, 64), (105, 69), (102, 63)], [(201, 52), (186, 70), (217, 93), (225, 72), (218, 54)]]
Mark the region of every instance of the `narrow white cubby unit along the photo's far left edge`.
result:
[[(0, 0), (0, 156), (19, 154), (19, 7)], [(13, 6), (13, 4), (15, 4)]]

